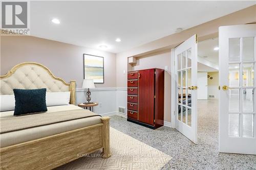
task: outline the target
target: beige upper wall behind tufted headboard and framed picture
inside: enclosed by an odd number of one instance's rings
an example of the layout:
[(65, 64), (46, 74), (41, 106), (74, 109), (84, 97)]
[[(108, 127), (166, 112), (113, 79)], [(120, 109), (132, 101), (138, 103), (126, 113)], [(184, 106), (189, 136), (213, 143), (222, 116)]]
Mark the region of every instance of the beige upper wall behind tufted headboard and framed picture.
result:
[(104, 84), (96, 87), (116, 87), (116, 55), (82, 46), (32, 36), (1, 36), (1, 75), (22, 62), (38, 62), (47, 66), (56, 77), (83, 80), (83, 54), (104, 57)]

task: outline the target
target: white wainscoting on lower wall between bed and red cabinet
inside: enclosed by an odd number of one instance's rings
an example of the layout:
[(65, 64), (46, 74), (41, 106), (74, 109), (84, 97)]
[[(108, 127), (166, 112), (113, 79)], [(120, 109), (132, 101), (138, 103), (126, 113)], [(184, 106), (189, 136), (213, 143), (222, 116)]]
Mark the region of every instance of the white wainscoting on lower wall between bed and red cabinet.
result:
[[(91, 91), (91, 102), (98, 102), (94, 112), (101, 116), (119, 115), (127, 118), (127, 88), (94, 88)], [(87, 89), (76, 89), (76, 104), (87, 102)], [(124, 107), (125, 113), (120, 113), (118, 107)], [(172, 123), (165, 122), (164, 126), (172, 127)]]

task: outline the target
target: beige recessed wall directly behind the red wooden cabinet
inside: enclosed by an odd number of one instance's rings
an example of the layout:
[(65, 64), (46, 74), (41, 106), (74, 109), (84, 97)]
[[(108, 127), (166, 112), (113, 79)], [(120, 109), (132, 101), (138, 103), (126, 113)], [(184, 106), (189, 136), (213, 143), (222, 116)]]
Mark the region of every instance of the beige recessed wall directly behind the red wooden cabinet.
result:
[(170, 122), (170, 50), (158, 52), (137, 58), (137, 63), (129, 70), (140, 70), (147, 68), (162, 68), (168, 66), (164, 71), (164, 121)]

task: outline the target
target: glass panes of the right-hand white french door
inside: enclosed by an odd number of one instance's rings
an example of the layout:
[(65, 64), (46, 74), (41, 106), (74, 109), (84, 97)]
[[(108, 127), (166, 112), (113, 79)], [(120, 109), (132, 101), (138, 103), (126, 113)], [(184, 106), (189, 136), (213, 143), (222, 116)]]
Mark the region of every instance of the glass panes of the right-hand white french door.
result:
[(253, 137), (254, 37), (229, 38), (228, 134)]

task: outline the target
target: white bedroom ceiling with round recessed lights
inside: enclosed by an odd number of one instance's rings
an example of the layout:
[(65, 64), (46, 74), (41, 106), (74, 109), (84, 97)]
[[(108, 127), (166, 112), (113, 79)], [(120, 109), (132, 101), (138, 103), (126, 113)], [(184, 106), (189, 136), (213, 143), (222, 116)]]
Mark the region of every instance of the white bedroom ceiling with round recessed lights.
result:
[[(31, 35), (120, 53), (254, 1), (31, 1)], [(58, 18), (60, 24), (51, 22)], [(121, 42), (115, 39), (120, 38)]]

